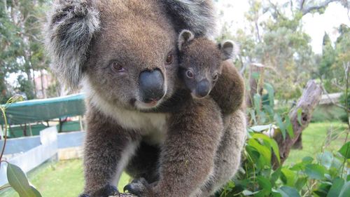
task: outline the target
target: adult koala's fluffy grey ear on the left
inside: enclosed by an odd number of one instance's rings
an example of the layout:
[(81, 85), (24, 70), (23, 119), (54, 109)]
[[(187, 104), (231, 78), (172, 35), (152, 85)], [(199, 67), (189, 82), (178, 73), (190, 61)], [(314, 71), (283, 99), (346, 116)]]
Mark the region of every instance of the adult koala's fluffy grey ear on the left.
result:
[(99, 12), (92, 1), (57, 0), (48, 14), (46, 46), (52, 68), (72, 89), (83, 78), (87, 50), (99, 30)]

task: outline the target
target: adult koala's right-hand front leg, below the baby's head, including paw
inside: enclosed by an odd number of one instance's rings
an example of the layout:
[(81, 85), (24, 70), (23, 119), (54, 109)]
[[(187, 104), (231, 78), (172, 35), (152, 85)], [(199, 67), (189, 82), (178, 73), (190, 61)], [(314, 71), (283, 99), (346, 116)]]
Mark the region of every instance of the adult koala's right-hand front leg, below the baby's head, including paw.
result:
[(188, 197), (207, 180), (214, 169), (223, 123), (216, 103), (191, 100), (169, 122), (160, 156), (160, 180), (153, 186), (136, 181), (127, 190), (139, 197)]

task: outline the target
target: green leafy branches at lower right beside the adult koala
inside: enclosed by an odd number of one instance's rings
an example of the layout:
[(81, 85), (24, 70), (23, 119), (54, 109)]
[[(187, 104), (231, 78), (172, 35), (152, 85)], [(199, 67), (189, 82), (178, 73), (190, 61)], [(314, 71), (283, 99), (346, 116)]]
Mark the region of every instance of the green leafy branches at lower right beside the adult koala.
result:
[[(274, 90), (269, 84), (268, 101), (274, 100)], [(265, 101), (265, 102), (264, 102)], [(279, 147), (272, 138), (276, 133), (293, 137), (293, 127), (288, 114), (276, 112), (273, 102), (254, 96), (252, 109), (248, 109), (251, 127), (248, 128), (241, 169), (235, 179), (217, 196), (320, 196), (345, 197), (350, 193), (350, 142), (346, 139), (337, 152), (321, 151), (316, 157), (307, 156), (294, 165), (272, 165), (279, 159)], [(349, 117), (348, 117), (349, 118)], [(349, 120), (348, 120), (349, 121)], [(269, 137), (271, 136), (271, 137)], [(325, 139), (331, 140), (331, 139)], [(325, 142), (325, 146), (329, 142)]]

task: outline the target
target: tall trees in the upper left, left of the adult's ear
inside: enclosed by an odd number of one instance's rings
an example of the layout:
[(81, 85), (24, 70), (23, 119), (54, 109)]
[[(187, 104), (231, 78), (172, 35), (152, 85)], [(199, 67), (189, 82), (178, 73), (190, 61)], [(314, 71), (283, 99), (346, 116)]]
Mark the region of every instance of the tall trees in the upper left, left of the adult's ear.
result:
[[(34, 71), (48, 67), (41, 36), (46, 1), (0, 1), (0, 103), (14, 92), (36, 95)], [(20, 74), (17, 84), (6, 82), (9, 74)]]

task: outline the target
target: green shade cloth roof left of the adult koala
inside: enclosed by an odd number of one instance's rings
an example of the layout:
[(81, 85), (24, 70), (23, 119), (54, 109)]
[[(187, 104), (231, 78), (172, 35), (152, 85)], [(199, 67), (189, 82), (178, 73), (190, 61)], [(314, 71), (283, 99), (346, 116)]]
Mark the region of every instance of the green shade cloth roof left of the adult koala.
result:
[[(6, 109), (7, 121), (10, 125), (18, 125), (66, 116), (80, 116), (85, 114), (84, 98), (85, 95), (80, 93), (65, 97), (15, 102)], [(0, 124), (4, 124), (3, 118), (0, 118)]]

